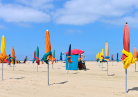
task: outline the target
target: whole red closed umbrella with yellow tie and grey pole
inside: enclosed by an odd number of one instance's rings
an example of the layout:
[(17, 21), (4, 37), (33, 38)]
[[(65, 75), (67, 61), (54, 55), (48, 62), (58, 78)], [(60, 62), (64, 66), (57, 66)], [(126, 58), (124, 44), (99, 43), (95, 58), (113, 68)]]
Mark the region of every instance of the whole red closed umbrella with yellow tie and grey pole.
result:
[(129, 36), (129, 27), (128, 24), (125, 24), (123, 31), (123, 50), (122, 50), (122, 62), (125, 69), (125, 93), (127, 93), (127, 68), (131, 63), (135, 64), (132, 53), (130, 52), (130, 36)]

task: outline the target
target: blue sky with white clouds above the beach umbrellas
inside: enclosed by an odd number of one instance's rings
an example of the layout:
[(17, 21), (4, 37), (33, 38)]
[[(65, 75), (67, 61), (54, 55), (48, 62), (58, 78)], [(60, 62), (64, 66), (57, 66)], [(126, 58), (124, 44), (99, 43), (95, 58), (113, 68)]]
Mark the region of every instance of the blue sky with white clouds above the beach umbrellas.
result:
[[(0, 0), (0, 37), (5, 36), (6, 53), (15, 49), (17, 60), (33, 59), (39, 46), (45, 54), (45, 34), (49, 30), (51, 50), (84, 50), (86, 60), (95, 60), (105, 50), (121, 58), (123, 30), (128, 22), (130, 51), (138, 48), (138, 0)], [(1, 40), (1, 38), (0, 38)]]

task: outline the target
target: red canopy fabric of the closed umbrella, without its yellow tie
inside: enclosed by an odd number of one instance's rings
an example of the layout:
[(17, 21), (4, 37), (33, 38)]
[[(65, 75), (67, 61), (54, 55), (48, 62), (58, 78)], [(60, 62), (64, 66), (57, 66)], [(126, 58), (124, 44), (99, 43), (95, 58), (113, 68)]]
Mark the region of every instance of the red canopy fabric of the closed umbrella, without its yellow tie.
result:
[[(130, 52), (130, 36), (129, 36), (129, 27), (128, 24), (125, 24), (124, 31), (123, 31), (123, 48), (125, 51)], [(126, 55), (123, 54), (121, 59), (124, 60)]]

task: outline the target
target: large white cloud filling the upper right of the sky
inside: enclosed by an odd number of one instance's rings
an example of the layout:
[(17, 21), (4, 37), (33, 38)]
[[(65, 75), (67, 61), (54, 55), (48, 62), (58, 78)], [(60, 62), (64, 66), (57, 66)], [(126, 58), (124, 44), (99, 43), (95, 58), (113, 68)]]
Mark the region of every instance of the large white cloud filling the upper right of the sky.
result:
[(112, 20), (117, 19), (135, 24), (137, 9), (137, 0), (70, 0), (53, 17), (58, 24), (85, 25), (97, 21), (113, 24)]

